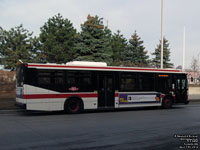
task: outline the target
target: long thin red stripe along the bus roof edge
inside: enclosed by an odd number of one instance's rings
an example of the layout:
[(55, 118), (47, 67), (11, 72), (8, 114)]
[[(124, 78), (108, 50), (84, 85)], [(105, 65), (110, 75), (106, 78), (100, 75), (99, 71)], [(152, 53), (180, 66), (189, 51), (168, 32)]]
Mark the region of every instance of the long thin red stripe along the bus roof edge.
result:
[(180, 72), (179, 70), (166, 69), (142, 69), (142, 68), (121, 68), (121, 67), (86, 67), (86, 66), (61, 66), (61, 65), (36, 65), (28, 64), (28, 67), (57, 67), (57, 68), (76, 68), (76, 69), (105, 69), (105, 70), (135, 70), (135, 71), (160, 71), (160, 72)]

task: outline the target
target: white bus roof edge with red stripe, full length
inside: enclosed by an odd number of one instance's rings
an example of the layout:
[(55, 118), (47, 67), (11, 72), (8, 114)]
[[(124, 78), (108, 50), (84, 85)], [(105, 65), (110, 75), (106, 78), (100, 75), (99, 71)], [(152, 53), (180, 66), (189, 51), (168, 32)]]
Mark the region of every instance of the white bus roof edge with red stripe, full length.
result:
[(139, 67), (120, 67), (120, 66), (90, 66), (90, 65), (70, 65), (70, 64), (39, 64), (27, 63), (28, 68), (36, 69), (64, 69), (64, 70), (96, 70), (96, 71), (129, 71), (129, 72), (159, 72), (159, 73), (184, 73), (176, 69), (158, 69), (158, 68), (139, 68)]

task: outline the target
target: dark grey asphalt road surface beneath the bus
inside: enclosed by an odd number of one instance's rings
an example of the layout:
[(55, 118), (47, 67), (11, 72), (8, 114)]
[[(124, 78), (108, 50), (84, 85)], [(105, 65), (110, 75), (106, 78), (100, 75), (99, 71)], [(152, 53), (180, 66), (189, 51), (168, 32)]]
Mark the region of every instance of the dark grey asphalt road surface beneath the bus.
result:
[(1, 150), (173, 150), (184, 143), (200, 147), (200, 103), (168, 110), (0, 114)]

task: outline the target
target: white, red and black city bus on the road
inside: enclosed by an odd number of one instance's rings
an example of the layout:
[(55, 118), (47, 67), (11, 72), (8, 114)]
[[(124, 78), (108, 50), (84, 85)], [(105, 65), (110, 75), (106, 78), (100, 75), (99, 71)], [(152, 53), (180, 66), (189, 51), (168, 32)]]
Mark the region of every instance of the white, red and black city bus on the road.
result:
[(107, 66), (103, 62), (19, 64), (16, 105), (26, 110), (79, 113), (188, 104), (187, 74), (175, 69)]

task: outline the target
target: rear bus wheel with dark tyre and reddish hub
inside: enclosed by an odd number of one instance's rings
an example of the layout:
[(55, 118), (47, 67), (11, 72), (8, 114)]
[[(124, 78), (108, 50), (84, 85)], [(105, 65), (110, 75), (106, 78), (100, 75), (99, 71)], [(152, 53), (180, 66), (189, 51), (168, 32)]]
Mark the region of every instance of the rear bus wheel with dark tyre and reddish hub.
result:
[(66, 113), (76, 114), (76, 113), (80, 113), (81, 110), (82, 110), (81, 100), (72, 98), (72, 99), (69, 99), (65, 102), (64, 111)]

